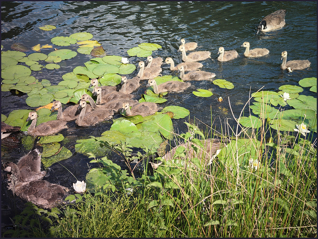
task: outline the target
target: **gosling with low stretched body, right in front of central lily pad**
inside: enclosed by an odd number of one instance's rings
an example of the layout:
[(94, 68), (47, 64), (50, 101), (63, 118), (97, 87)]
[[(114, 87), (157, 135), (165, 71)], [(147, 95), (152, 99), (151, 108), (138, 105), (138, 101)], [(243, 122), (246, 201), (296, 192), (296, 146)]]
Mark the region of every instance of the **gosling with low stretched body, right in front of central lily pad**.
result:
[(155, 79), (149, 79), (147, 87), (153, 86), (154, 92), (159, 94), (160, 92), (170, 92), (170, 91), (181, 91), (190, 87), (189, 82), (182, 82), (182, 81), (167, 81), (157, 85)]

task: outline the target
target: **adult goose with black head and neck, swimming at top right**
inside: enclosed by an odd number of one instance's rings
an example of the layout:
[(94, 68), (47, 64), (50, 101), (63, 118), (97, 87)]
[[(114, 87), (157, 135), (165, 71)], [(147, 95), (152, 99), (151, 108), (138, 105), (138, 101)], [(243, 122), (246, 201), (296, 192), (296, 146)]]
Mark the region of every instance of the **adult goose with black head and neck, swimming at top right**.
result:
[(280, 9), (267, 15), (256, 28), (256, 35), (260, 31), (271, 31), (285, 26), (286, 10)]

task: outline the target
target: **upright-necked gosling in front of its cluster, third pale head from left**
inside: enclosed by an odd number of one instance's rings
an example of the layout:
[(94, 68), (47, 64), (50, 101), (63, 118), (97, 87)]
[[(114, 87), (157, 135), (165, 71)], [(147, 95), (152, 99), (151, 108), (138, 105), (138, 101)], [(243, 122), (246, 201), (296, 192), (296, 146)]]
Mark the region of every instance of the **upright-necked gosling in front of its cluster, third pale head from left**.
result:
[(86, 113), (86, 101), (81, 100), (78, 108), (81, 110), (79, 117), (75, 120), (78, 126), (93, 126), (101, 121), (110, 119), (114, 115), (113, 110), (93, 110)]

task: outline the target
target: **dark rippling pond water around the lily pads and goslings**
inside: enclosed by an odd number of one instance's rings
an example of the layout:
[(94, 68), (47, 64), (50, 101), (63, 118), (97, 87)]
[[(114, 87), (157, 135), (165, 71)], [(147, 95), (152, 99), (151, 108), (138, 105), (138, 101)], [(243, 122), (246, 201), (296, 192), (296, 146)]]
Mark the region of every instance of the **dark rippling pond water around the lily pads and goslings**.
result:
[[(256, 26), (266, 15), (286, 9), (286, 25), (276, 31), (259, 33), (255, 36)], [(1, 44), (3, 51), (11, 50), (13, 43), (23, 43), (30, 48), (36, 44), (51, 44), (56, 36), (67, 37), (77, 32), (89, 32), (98, 41), (108, 55), (128, 57), (130, 63), (138, 65), (145, 57), (128, 56), (127, 50), (140, 43), (157, 43), (162, 46), (152, 56), (163, 59), (172, 57), (175, 63), (181, 63), (181, 53), (177, 52), (180, 40), (197, 42), (197, 50), (208, 50), (211, 58), (202, 61), (204, 71), (214, 72), (214, 79), (225, 79), (234, 84), (234, 89), (218, 87), (212, 81), (193, 81), (192, 86), (182, 93), (169, 93), (167, 102), (160, 107), (177, 105), (190, 111), (190, 121), (205, 131), (206, 125), (221, 131), (221, 122), (228, 120), (234, 125), (233, 116), (239, 117), (249, 92), (263, 90), (278, 91), (283, 84), (298, 85), (299, 80), (317, 76), (317, 3), (316, 2), (2, 2), (1, 3)], [(54, 25), (52, 31), (43, 31), (38, 27)], [(245, 41), (251, 49), (267, 48), (269, 55), (255, 59), (243, 56)], [(217, 61), (218, 48), (236, 49), (239, 58), (229, 62)], [(55, 47), (55, 46), (53, 46)], [(59, 47), (76, 51), (77, 46)], [(311, 62), (308, 69), (288, 73), (280, 69), (281, 52), (288, 52), (288, 60), (306, 60)], [(52, 49), (42, 49), (48, 54)], [(27, 52), (27, 54), (30, 54)], [(62, 61), (58, 70), (43, 69), (32, 71), (37, 79), (48, 79), (52, 85), (62, 81), (62, 75), (72, 72), (77, 66), (84, 66), (90, 55), (79, 54)], [(20, 63), (21, 64), (21, 63)], [(136, 76), (137, 70), (127, 78)], [(171, 73), (169, 65), (162, 66), (162, 75)], [(140, 88), (134, 93), (140, 99), (146, 90), (147, 81), (141, 81)], [(207, 98), (192, 94), (195, 89), (211, 90), (213, 95)], [(316, 94), (305, 88), (304, 95)], [(222, 96), (223, 102), (217, 101)], [(1, 111), (8, 116), (12, 110), (33, 109), (25, 103), (27, 95), (16, 96), (10, 91), (1, 92)], [(229, 103), (230, 100), (230, 103)], [(285, 109), (291, 109), (288, 105)], [(248, 113), (245, 110), (245, 113)], [(173, 119), (175, 132), (187, 130), (185, 119)], [(75, 181), (85, 180), (86, 173), (92, 167), (88, 156), (75, 152), (75, 141), (89, 136), (100, 136), (108, 130), (110, 123), (101, 123), (96, 127), (78, 127), (74, 122), (69, 129), (62, 131), (68, 137), (65, 147), (73, 156), (53, 164), (45, 177), (51, 183), (59, 183), (72, 188)], [(22, 137), (20, 135), (20, 137)], [(172, 143), (174, 144), (174, 143)], [(174, 146), (174, 145), (173, 145)], [(2, 147), (2, 162), (17, 160), (27, 152), (22, 144), (16, 147)], [(124, 162), (110, 155), (113, 162), (126, 168)], [(62, 165), (62, 166), (61, 166)], [(68, 171), (69, 170), (69, 171)], [(73, 175), (74, 176), (73, 176)], [(16, 207), (21, 209), (23, 202), (12, 198), (6, 185), (2, 184), (2, 225), (10, 223), (8, 217), (14, 215)]]

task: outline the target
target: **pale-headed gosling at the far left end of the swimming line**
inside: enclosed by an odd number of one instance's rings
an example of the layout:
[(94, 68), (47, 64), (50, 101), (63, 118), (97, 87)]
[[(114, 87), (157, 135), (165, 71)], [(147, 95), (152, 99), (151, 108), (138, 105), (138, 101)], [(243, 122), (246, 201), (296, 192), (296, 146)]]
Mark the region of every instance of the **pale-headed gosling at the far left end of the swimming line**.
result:
[(29, 113), (29, 117), (26, 119), (26, 121), (32, 120), (32, 123), (30, 124), (28, 128), (28, 135), (32, 136), (47, 136), (47, 135), (53, 135), (57, 132), (61, 131), (62, 129), (67, 129), (66, 121), (65, 120), (50, 120), (44, 123), (40, 123), (37, 127), (35, 125), (37, 124), (37, 117), (38, 114), (35, 111), (31, 111)]

